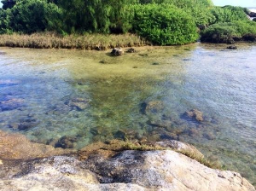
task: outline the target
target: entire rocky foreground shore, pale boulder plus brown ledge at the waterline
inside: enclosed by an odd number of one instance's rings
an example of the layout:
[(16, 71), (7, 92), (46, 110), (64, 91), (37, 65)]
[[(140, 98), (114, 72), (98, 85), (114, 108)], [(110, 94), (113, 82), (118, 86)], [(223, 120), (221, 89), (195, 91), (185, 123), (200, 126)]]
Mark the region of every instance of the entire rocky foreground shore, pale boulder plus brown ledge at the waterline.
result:
[[(218, 171), (171, 150), (203, 155), (177, 141), (153, 146), (113, 140), (96, 142), (79, 152), (29, 142), (25, 136), (0, 130), (0, 188), (9, 190), (237, 190), (255, 188), (231, 171)], [(129, 143), (127, 143), (129, 144)], [(148, 148), (147, 148), (148, 147)], [(151, 147), (151, 148), (150, 148)], [(66, 155), (66, 156), (55, 156)]]

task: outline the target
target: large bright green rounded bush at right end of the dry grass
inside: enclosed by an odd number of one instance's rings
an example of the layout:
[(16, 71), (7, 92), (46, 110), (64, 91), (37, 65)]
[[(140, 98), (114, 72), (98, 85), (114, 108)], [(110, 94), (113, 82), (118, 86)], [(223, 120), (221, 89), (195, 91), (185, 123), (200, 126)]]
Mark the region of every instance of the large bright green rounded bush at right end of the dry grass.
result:
[(160, 45), (193, 43), (198, 38), (191, 16), (170, 4), (138, 5), (133, 25), (138, 35)]

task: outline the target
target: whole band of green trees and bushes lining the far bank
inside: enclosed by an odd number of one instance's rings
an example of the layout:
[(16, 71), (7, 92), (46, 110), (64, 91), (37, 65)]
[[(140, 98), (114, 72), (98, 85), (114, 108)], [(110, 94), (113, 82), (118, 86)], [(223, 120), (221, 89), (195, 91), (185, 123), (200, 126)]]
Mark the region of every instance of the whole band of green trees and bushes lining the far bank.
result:
[[(2, 0), (2, 3), (0, 34), (57, 32), (65, 36), (131, 32), (160, 45), (194, 43), (200, 34), (202, 39), (215, 43), (233, 39), (234, 33), (236, 38), (256, 34), (256, 23), (247, 19), (249, 10), (216, 7), (211, 0)], [(236, 30), (237, 21), (245, 30)], [(211, 28), (214, 26), (217, 30)], [(222, 39), (224, 26), (229, 26), (230, 31)], [(214, 32), (221, 35), (212, 40), (207, 35), (214, 36)]]

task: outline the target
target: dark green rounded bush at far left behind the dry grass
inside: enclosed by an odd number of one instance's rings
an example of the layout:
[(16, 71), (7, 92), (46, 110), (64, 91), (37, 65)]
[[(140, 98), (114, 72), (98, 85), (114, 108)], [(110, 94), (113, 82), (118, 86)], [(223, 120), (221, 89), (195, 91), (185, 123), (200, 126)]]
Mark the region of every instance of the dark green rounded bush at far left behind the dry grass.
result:
[(61, 9), (46, 0), (18, 1), (12, 9), (1, 10), (0, 32), (44, 32), (58, 29)]

